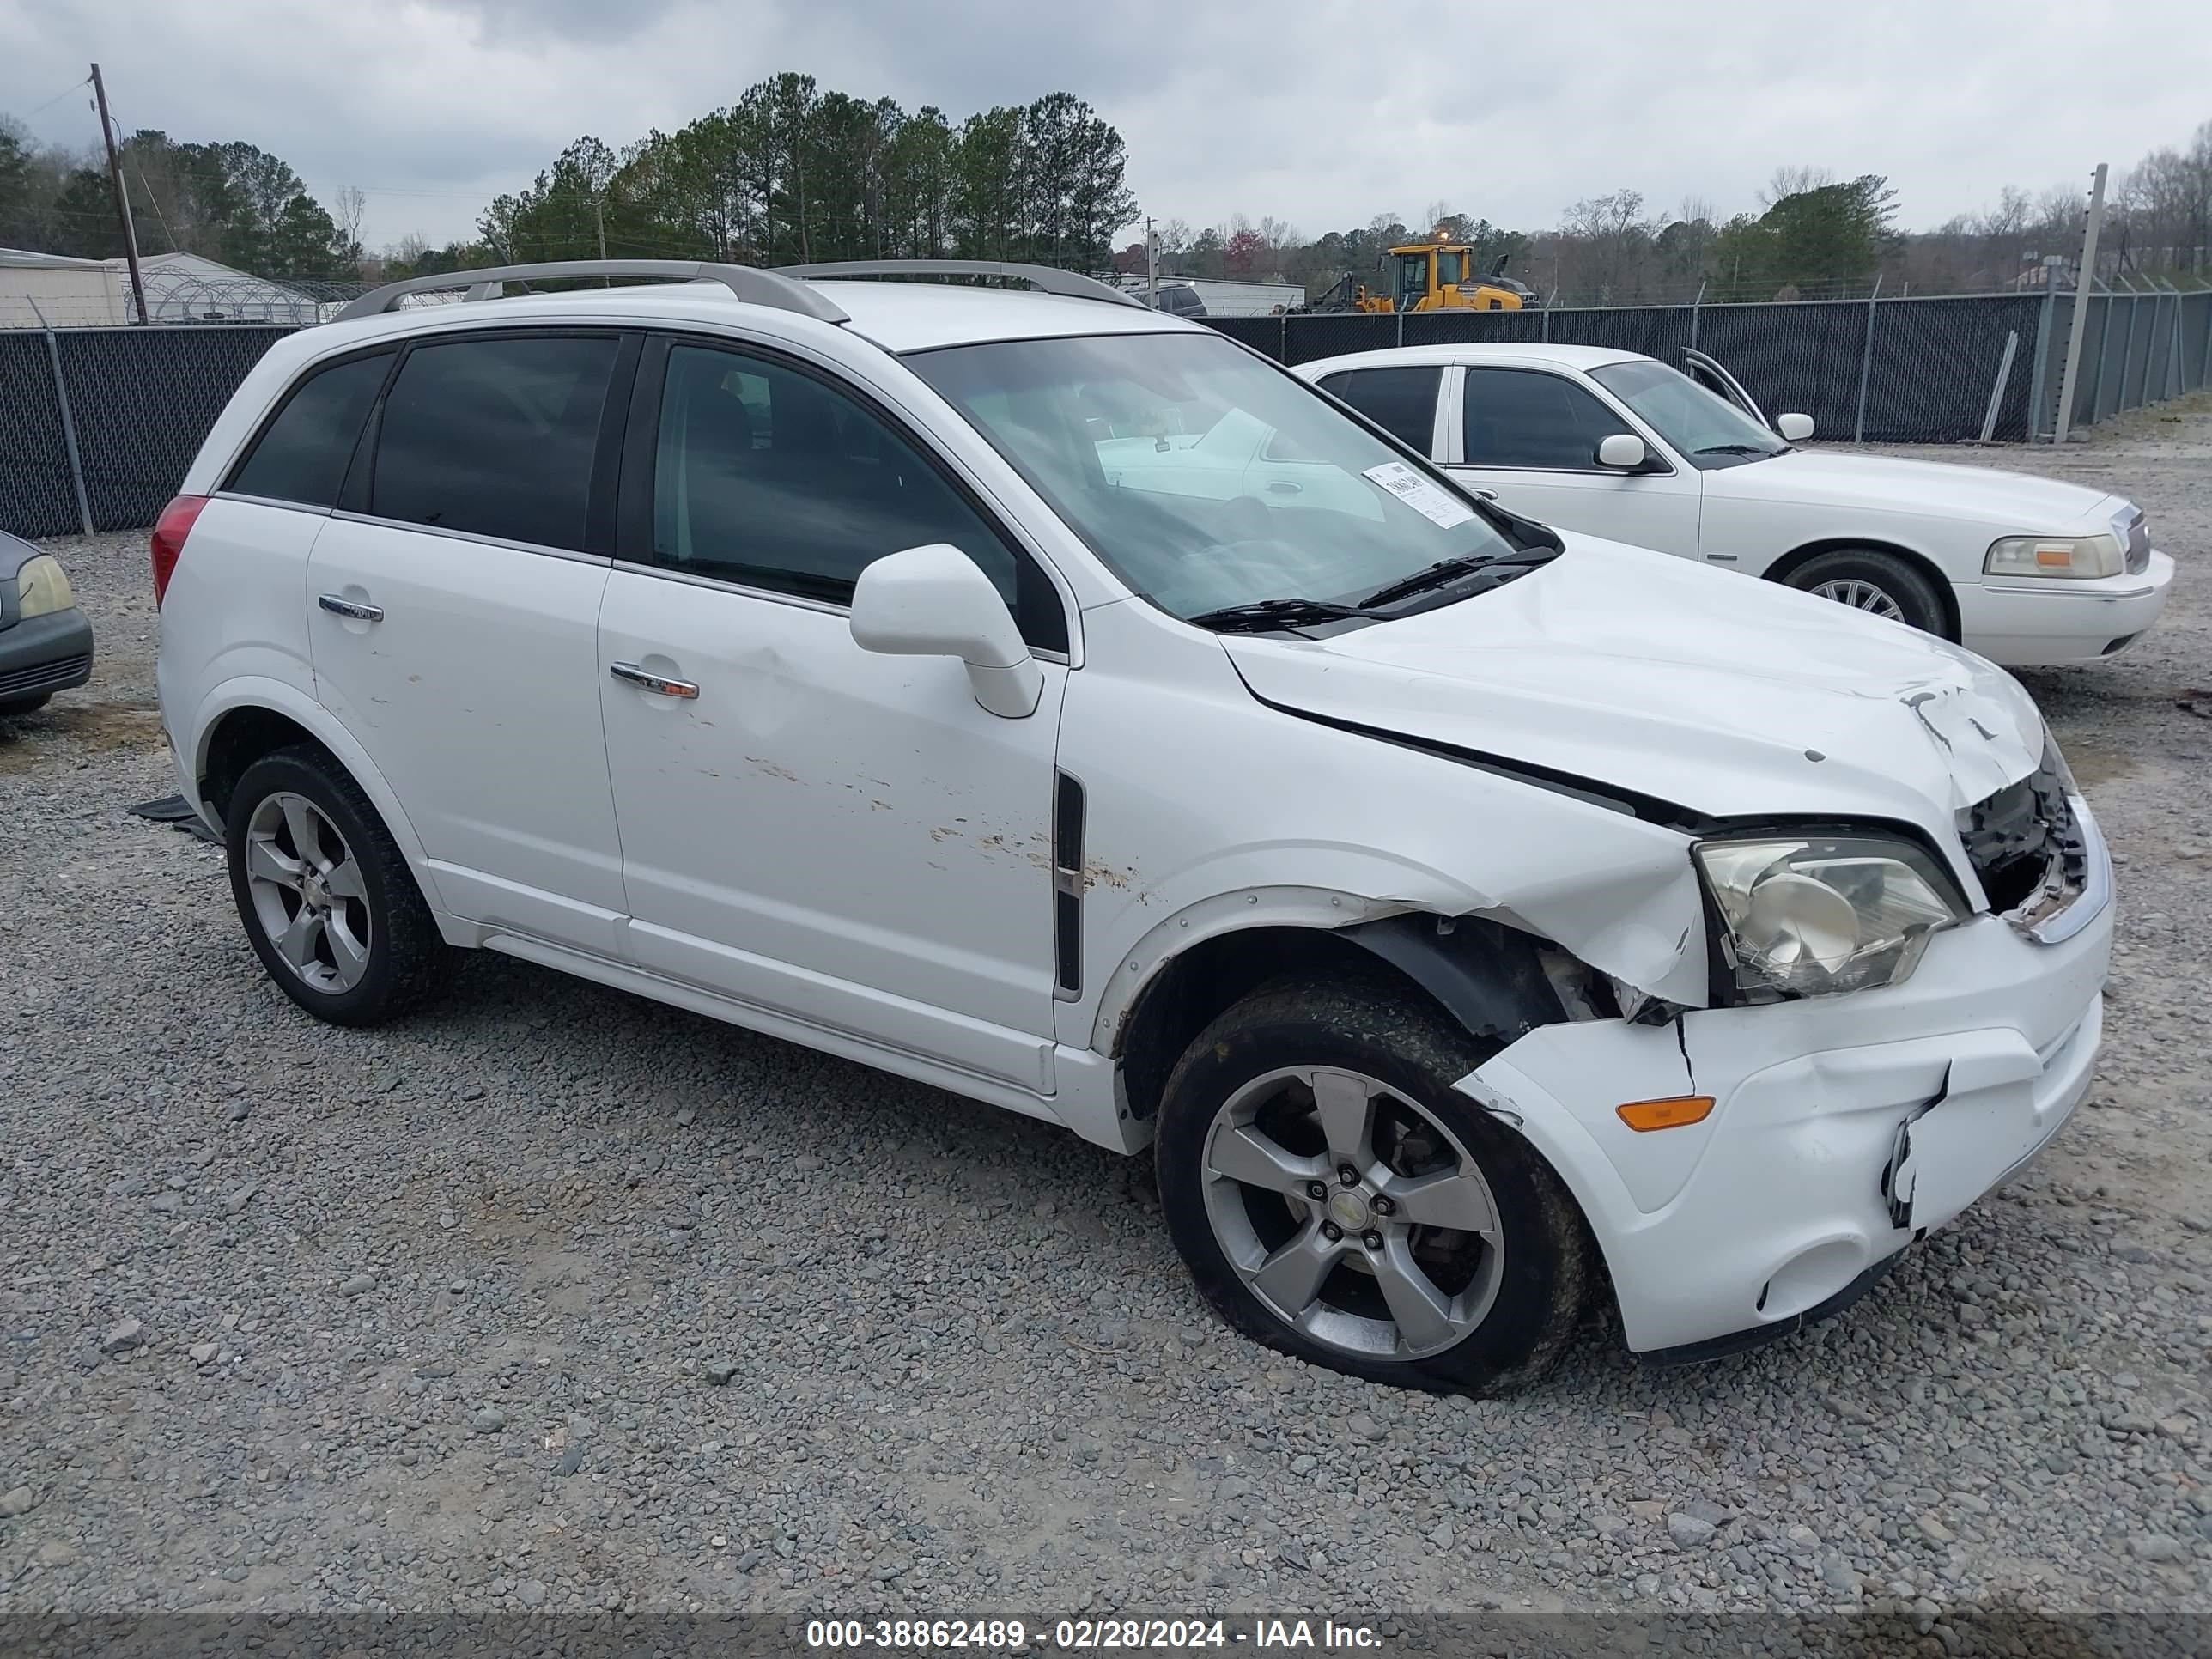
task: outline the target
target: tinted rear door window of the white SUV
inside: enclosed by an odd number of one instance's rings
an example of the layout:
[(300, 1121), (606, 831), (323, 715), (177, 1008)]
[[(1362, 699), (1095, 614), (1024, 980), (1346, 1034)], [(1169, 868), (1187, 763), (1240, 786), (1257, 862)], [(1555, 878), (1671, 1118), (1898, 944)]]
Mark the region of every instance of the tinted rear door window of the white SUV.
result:
[(582, 551), (617, 345), (613, 336), (418, 345), (385, 394), (369, 513)]

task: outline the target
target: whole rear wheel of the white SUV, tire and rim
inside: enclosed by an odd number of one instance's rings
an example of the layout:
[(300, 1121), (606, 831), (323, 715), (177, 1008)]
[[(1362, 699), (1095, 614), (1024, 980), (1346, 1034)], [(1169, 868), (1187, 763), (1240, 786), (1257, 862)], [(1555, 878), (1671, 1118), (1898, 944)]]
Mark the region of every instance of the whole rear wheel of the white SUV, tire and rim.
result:
[(319, 1020), (383, 1024), (451, 978), (414, 872), (361, 785), (319, 748), (246, 768), (230, 796), (230, 894), (254, 956)]

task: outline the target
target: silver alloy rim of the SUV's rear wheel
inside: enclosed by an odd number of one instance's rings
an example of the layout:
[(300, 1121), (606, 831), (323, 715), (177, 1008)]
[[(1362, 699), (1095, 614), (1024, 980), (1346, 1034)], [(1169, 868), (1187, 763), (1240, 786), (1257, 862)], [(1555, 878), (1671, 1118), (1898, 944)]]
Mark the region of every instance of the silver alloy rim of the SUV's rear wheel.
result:
[(246, 891), (279, 960), (338, 995), (369, 971), (369, 894), (338, 825), (303, 794), (263, 796), (246, 821)]

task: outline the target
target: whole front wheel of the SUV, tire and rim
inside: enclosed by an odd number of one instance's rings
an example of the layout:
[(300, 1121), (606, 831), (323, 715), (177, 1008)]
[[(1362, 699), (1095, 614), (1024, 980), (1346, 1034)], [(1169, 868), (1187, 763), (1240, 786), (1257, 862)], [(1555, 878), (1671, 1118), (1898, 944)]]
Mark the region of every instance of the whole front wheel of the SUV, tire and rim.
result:
[(1405, 993), (1283, 982), (1183, 1053), (1155, 1164), (1177, 1250), (1237, 1329), (1376, 1383), (1506, 1391), (1593, 1279), (1575, 1201), (1453, 1084), (1489, 1051)]

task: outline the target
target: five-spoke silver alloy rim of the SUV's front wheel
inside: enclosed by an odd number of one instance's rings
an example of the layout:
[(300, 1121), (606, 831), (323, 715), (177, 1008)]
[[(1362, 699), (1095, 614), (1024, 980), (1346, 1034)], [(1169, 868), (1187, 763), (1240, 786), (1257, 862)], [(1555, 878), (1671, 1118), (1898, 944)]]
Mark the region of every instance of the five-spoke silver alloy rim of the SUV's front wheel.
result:
[(1203, 1186), (1245, 1290), (1340, 1354), (1442, 1354), (1498, 1301), (1504, 1234), (1482, 1168), (1376, 1077), (1336, 1066), (1254, 1077), (1206, 1130)]

